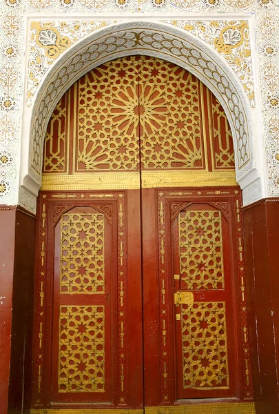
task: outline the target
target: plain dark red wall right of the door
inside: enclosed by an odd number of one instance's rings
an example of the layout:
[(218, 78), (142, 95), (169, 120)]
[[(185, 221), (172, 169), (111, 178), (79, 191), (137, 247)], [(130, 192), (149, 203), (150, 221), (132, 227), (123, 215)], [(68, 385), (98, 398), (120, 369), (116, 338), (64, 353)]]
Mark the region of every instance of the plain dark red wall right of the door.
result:
[(257, 414), (278, 414), (279, 199), (243, 208), (245, 273)]

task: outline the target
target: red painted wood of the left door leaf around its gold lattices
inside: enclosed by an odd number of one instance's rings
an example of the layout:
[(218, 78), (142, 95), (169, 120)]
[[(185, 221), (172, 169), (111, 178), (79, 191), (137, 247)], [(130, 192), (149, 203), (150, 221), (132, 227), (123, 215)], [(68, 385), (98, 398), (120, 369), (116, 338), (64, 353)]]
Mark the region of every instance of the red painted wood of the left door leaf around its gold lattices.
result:
[[(106, 198), (107, 193), (110, 194)], [(41, 249), (38, 249), (37, 274), (41, 274), (44, 279), (40, 280), (39, 277), (35, 288), (37, 312), (34, 322), (34, 355), (37, 362), (34, 364), (33, 406), (61, 407), (62, 404), (69, 407), (82, 403), (87, 408), (92, 407), (92, 404), (98, 407), (139, 408), (143, 406), (142, 352), (138, 348), (143, 340), (139, 192), (107, 191), (103, 192), (103, 197), (94, 201), (94, 193), (67, 194), (68, 199), (57, 199), (58, 193), (41, 194), (39, 203), (39, 215), (42, 216), (41, 213), (45, 211), (46, 233), (41, 219), (38, 237), (40, 239), (40, 235), (45, 237), (47, 234), (45, 250), (48, 254), (47, 267), (41, 272)], [(73, 203), (75, 197), (77, 199)], [(104, 209), (111, 212), (107, 213), (108, 219), (105, 219), (105, 294), (60, 293), (61, 215), (99, 213)], [(40, 247), (41, 242), (38, 245)], [(120, 246), (123, 246), (123, 254), (119, 251)], [(45, 319), (40, 319), (41, 283), (45, 284)], [(105, 306), (105, 392), (59, 393), (59, 308), (94, 304)], [(40, 347), (41, 323), (45, 327)], [(40, 364), (42, 384), (41, 391), (38, 391)]]

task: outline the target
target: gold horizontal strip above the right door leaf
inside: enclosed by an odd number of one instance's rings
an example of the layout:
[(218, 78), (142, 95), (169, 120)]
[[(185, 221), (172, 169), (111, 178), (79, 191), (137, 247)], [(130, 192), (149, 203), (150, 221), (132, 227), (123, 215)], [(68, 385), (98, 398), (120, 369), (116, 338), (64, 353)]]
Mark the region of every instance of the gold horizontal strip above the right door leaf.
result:
[(237, 186), (234, 171), (143, 171), (143, 188)]

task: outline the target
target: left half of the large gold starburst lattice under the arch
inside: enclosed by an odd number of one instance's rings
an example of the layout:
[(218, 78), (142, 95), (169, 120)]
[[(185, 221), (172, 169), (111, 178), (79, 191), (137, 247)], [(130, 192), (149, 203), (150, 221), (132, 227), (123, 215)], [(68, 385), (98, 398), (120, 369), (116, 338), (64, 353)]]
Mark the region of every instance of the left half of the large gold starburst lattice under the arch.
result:
[(105, 63), (79, 79), (74, 88), (74, 172), (137, 170), (137, 58)]

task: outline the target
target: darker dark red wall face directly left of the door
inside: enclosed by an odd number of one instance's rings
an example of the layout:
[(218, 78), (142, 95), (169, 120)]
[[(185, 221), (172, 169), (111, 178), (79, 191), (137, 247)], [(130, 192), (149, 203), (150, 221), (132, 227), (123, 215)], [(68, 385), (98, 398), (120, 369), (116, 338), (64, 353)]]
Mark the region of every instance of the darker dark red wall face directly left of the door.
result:
[(17, 209), (12, 288), (12, 345), (8, 413), (30, 408), (35, 219)]

